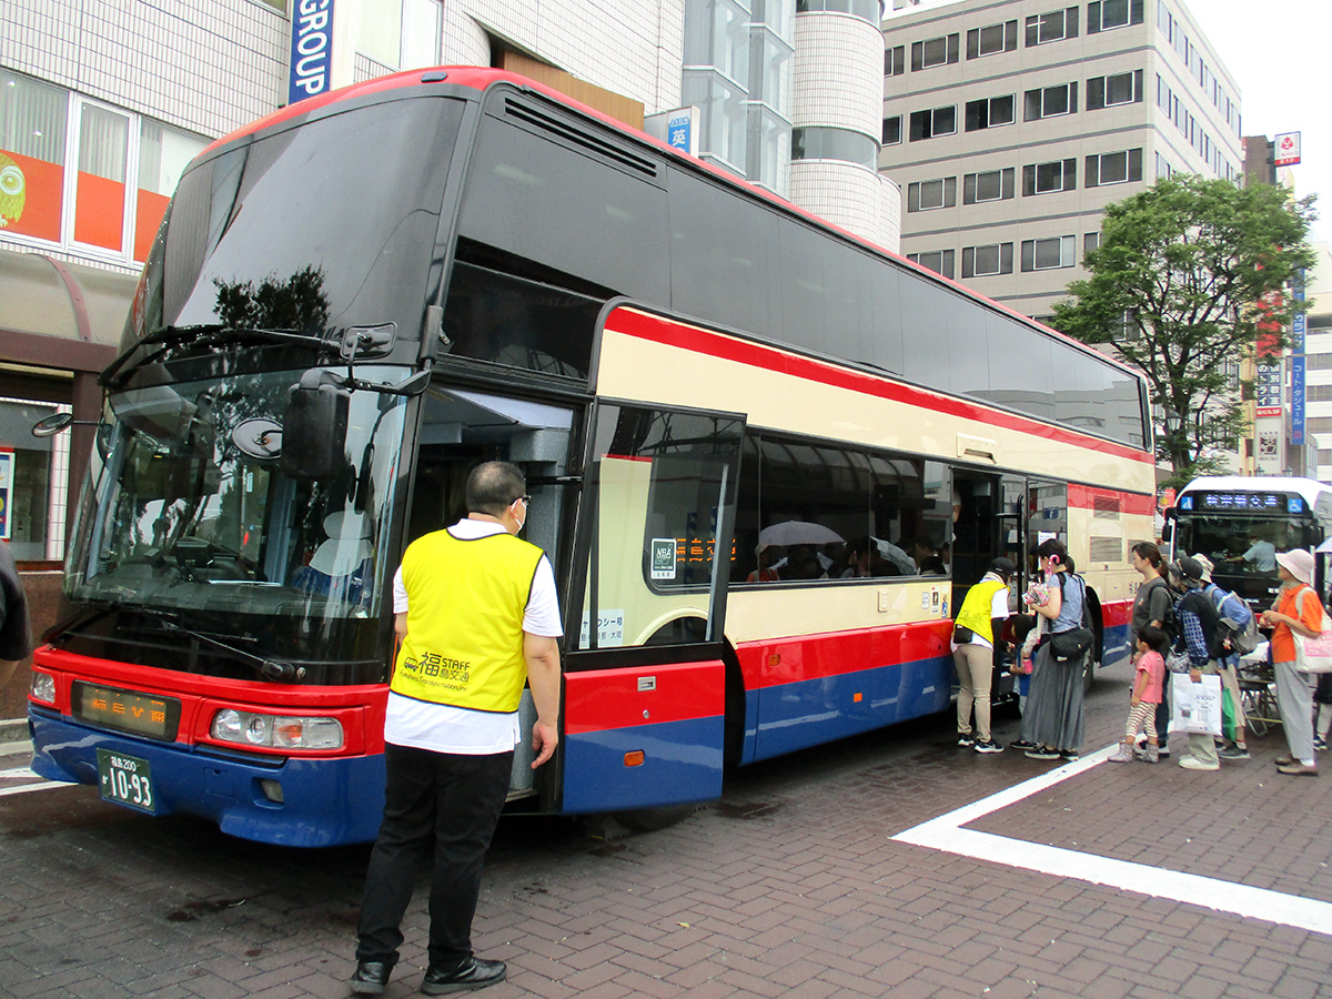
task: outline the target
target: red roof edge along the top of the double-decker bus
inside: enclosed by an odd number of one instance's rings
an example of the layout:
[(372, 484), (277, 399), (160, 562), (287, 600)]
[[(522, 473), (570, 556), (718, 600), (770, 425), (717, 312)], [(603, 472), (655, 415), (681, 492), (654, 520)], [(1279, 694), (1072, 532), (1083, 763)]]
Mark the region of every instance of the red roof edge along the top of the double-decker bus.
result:
[(338, 104), (341, 101), (354, 100), (354, 99), (370, 96), (370, 95), (374, 95), (374, 93), (385, 93), (385, 92), (390, 92), (390, 91), (396, 91), (396, 89), (405, 89), (405, 88), (409, 88), (409, 87), (420, 87), (422, 84), (441, 84), (441, 83), (452, 84), (454, 87), (466, 87), (469, 89), (474, 89), (474, 91), (478, 91), (478, 92), (484, 92), (489, 87), (492, 87), (494, 84), (498, 84), (498, 83), (507, 83), (507, 84), (511, 84), (514, 87), (518, 87), (518, 88), (522, 88), (522, 89), (526, 89), (526, 91), (531, 91), (531, 92), (539, 93), (539, 95), (547, 97), (549, 100), (553, 100), (553, 101), (555, 101), (558, 104), (562, 104), (562, 105), (565, 105), (565, 107), (567, 107), (567, 108), (570, 108), (573, 111), (579, 112), (581, 115), (585, 115), (586, 117), (590, 117), (590, 119), (594, 119), (594, 120), (599, 121), (602, 125), (605, 125), (607, 128), (611, 128), (615, 132), (619, 132), (619, 133), (622, 133), (625, 136), (629, 136), (629, 137), (631, 137), (631, 139), (634, 139), (634, 140), (637, 140), (639, 143), (645, 143), (647, 145), (651, 145), (653, 148), (655, 148), (655, 149), (658, 149), (661, 152), (665, 152), (665, 153), (667, 153), (667, 155), (670, 155), (673, 157), (677, 157), (678, 160), (686, 161), (691, 168), (694, 168), (694, 169), (702, 169), (705, 172), (707, 172), (709, 174), (711, 174), (714, 178), (721, 180), (722, 182), (725, 182), (726, 185), (729, 185), (731, 188), (739, 188), (739, 189), (745, 190), (747, 194), (750, 194), (753, 197), (759, 197), (759, 198), (767, 201), (769, 204), (778, 205), (778, 206), (781, 206), (782, 209), (785, 209), (787, 212), (791, 212), (794, 214), (799, 214), (801, 217), (803, 217), (803, 218), (806, 218), (806, 220), (809, 220), (811, 222), (815, 222), (815, 224), (821, 225), (822, 228), (829, 229), (829, 230), (839, 234), (840, 237), (843, 237), (846, 240), (850, 240), (850, 241), (852, 241), (852, 242), (855, 242), (855, 244), (858, 244), (858, 245), (860, 245), (860, 246), (863, 246), (866, 249), (871, 249), (875, 253), (880, 253), (880, 254), (883, 254), (886, 257), (891, 257), (900, 266), (903, 266), (906, 269), (910, 269), (910, 270), (912, 270), (912, 272), (915, 272), (915, 273), (926, 277), (927, 280), (934, 281), (935, 284), (944, 285), (944, 286), (952, 289), (954, 292), (956, 292), (956, 293), (959, 293), (959, 294), (962, 294), (962, 296), (964, 296), (964, 297), (967, 297), (967, 298), (970, 298), (970, 300), (972, 300), (975, 302), (979, 302), (979, 304), (984, 305), (986, 308), (995, 309), (998, 312), (1006, 313), (1007, 316), (1011, 316), (1012, 318), (1019, 320), (1020, 322), (1023, 322), (1027, 326), (1032, 326), (1035, 329), (1039, 329), (1047, 337), (1051, 337), (1051, 338), (1055, 338), (1055, 340), (1060, 340), (1060, 341), (1068, 344), (1070, 346), (1074, 346), (1074, 348), (1079, 349), (1080, 352), (1083, 352), (1086, 354), (1094, 356), (1098, 361), (1103, 361), (1103, 362), (1106, 362), (1107, 365), (1110, 365), (1112, 368), (1120, 369), (1122, 372), (1124, 372), (1126, 374), (1130, 374), (1136, 381), (1146, 384), (1146, 378), (1144, 378), (1143, 373), (1139, 372), (1136, 368), (1132, 368), (1132, 366), (1124, 364), (1123, 361), (1120, 361), (1120, 360), (1118, 360), (1118, 358), (1115, 358), (1115, 357), (1112, 357), (1112, 356), (1110, 356), (1107, 353), (1103, 353), (1103, 352), (1095, 349), (1094, 346), (1083, 344), (1082, 341), (1078, 341), (1078, 340), (1074, 340), (1072, 337), (1070, 337), (1070, 336), (1067, 336), (1064, 333), (1060, 333), (1059, 330), (1052, 329), (1052, 328), (1044, 325), (1043, 322), (1036, 322), (1030, 316), (1024, 316), (1023, 313), (1016, 312), (1016, 310), (1008, 308), (1003, 302), (996, 302), (992, 298), (987, 298), (986, 296), (983, 296), (983, 294), (972, 290), (971, 288), (967, 288), (966, 285), (958, 284), (952, 278), (944, 277), (943, 274), (939, 274), (935, 270), (930, 270), (928, 268), (920, 266), (919, 264), (916, 264), (914, 261), (910, 261), (906, 257), (895, 253), (894, 250), (886, 249), (886, 248), (878, 245), (876, 242), (872, 242), (871, 240), (864, 238), (863, 236), (858, 236), (858, 234), (855, 234), (852, 232), (847, 232), (846, 229), (842, 229), (840, 226), (835, 225), (834, 222), (830, 222), (829, 220), (822, 218), (822, 217), (814, 214), (813, 212), (809, 212), (809, 210), (801, 208), (799, 205), (795, 205), (791, 201), (787, 201), (786, 198), (779, 197), (778, 194), (774, 194), (771, 190), (767, 190), (766, 188), (761, 188), (757, 184), (751, 184), (751, 182), (749, 182), (746, 180), (742, 180), (742, 178), (737, 177), (733, 173), (727, 173), (726, 170), (722, 170), (721, 168), (714, 166), (713, 164), (707, 163), (706, 160), (701, 160), (699, 157), (690, 156), (689, 153), (685, 153), (681, 149), (677, 149), (675, 147), (669, 145), (669, 144), (663, 143), (662, 140), (659, 140), (659, 139), (657, 139), (654, 136), (647, 135), (646, 132), (642, 132), (642, 131), (639, 131), (639, 129), (637, 129), (637, 128), (634, 128), (631, 125), (627, 125), (623, 121), (613, 119), (609, 115), (606, 115), (605, 112), (601, 112), (601, 111), (598, 111), (595, 108), (590, 108), (590, 107), (587, 107), (587, 105), (585, 105), (585, 104), (574, 100), (573, 97), (570, 97), (570, 96), (567, 96), (567, 95), (565, 95), (565, 93), (562, 93), (559, 91), (555, 91), (551, 87), (547, 87), (546, 84), (538, 83), (535, 80), (530, 80), (530, 79), (527, 79), (525, 76), (519, 76), (518, 73), (513, 73), (513, 72), (509, 72), (509, 71), (505, 71), (505, 69), (492, 69), (489, 67), (450, 65), (450, 67), (436, 67), (436, 68), (426, 68), (426, 69), (409, 69), (409, 71), (405, 71), (405, 72), (390, 73), (388, 76), (378, 76), (378, 77), (374, 77), (374, 79), (370, 79), (370, 80), (364, 80), (361, 83), (350, 84), (348, 87), (342, 87), (342, 88), (336, 89), (336, 91), (329, 91), (326, 93), (321, 93), (321, 95), (317, 95), (314, 97), (306, 97), (305, 100), (297, 101), (294, 104), (288, 104), (285, 108), (278, 108), (277, 111), (272, 112), (270, 115), (266, 115), (266, 116), (264, 116), (261, 119), (257, 119), (257, 120), (249, 123), (248, 125), (242, 125), (241, 128), (238, 128), (238, 129), (236, 129), (236, 131), (233, 131), (233, 132), (222, 136), (221, 139), (213, 141), (206, 149), (204, 149), (202, 153), (200, 153), (200, 157), (208, 156), (214, 149), (217, 149), (217, 148), (220, 148), (220, 147), (222, 147), (222, 145), (225, 145), (225, 144), (228, 144), (228, 143), (230, 143), (230, 141), (233, 141), (236, 139), (241, 139), (241, 137), (244, 137), (246, 135), (253, 135), (254, 132), (258, 132), (258, 131), (261, 131), (264, 128), (268, 128), (268, 127), (272, 127), (272, 125), (281, 124), (282, 121), (288, 121), (288, 120), (292, 120), (292, 119), (301, 117), (304, 115), (308, 115), (308, 113), (310, 113), (313, 111), (318, 111), (320, 108), (328, 107), (330, 104)]

